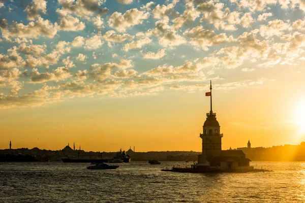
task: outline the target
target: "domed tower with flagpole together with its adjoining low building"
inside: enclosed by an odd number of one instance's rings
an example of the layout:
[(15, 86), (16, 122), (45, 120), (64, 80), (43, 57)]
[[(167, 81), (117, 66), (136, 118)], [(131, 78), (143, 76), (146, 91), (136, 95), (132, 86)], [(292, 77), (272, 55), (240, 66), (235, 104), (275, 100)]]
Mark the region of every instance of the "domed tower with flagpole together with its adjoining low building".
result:
[(212, 84), (210, 92), (210, 112), (206, 114), (206, 120), (203, 124), (203, 133), (200, 133), (202, 139), (202, 154), (198, 156), (198, 163), (208, 162), (210, 166), (219, 166), (221, 170), (241, 170), (252, 169), (250, 159), (246, 158), (245, 153), (241, 150), (222, 150), (221, 139), (223, 134), (220, 133), (220, 125), (216, 119), (216, 113), (212, 111)]

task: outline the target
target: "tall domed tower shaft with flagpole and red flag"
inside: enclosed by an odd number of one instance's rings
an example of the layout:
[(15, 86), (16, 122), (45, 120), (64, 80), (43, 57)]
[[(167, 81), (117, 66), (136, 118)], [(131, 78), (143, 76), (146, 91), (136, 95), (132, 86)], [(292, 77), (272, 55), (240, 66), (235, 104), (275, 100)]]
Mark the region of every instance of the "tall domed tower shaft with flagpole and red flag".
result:
[(210, 112), (206, 114), (206, 120), (202, 126), (203, 132), (200, 133), (202, 139), (202, 155), (198, 156), (198, 163), (205, 163), (206, 158), (221, 156), (220, 125), (216, 119), (216, 113), (212, 111), (212, 83), (210, 82), (210, 92), (205, 93), (210, 96)]

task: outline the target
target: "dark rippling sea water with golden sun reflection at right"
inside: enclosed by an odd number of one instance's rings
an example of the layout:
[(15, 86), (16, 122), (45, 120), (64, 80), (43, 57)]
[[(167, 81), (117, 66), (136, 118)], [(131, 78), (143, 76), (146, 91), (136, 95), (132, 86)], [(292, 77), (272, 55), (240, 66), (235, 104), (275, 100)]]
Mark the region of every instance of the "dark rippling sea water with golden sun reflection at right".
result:
[[(117, 165), (117, 163), (113, 163)], [(162, 172), (185, 162), (0, 163), (0, 202), (305, 202), (305, 162), (251, 162), (272, 172)]]

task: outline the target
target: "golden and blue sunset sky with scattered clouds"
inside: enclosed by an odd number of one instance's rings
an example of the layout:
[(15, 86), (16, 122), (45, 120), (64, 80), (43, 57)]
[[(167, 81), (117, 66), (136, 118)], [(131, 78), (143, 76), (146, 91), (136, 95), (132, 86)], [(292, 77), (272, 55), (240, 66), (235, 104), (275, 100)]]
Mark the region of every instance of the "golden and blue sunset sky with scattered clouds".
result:
[(0, 0), (0, 149), (305, 141), (302, 0)]

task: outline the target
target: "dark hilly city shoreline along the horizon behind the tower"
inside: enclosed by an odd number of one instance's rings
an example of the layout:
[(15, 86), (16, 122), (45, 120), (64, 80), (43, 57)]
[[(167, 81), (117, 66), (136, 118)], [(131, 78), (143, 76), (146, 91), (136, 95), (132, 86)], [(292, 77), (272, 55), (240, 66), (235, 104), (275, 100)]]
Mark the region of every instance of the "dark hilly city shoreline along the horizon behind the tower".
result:
[[(300, 145), (283, 145), (272, 147), (239, 147), (237, 149), (222, 150), (222, 153), (240, 153), (235, 151), (242, 151), (246, 154), (246, 158), (252, 161), (305, 161), (305, 142)], [(246, 144), (246, 141), (245, 141)], [(73, 150), (70, 146), (66, 146), (62, 150), (45, 150), (37, 147), (33, 149), (19, 148), (12, 149), (12, 142), (10, 141), (10, 147), (8, 149), (0, 150), (1, 156), (31, 156), (35, 157), (33, 160), (39, 161), (61, 161), (61, 158), (101, 158), (101, 152)], [(211, 150), (211, 149), (210, 149)], [(229, 151), (229, 152), (228, 152)], [(230, 152), (232, 151), (232, 152)], [(115, 156), (116, 152), (102, 152), (103, 158), (111, 159)], [(129, 149), (126, 152), (131, 156), (131, 161), (148, 161), (150, 159), (157, 159), (160, 161), (197, 161), (198, 155), (202, 155), (202, 152), (195, 151), (149, 151), (149, 152), (135, 152)], [(229, 155), (225, 154), (225, 155)], [(231, 154), (230, 154), (231, 155)]]

